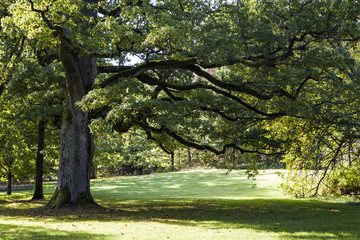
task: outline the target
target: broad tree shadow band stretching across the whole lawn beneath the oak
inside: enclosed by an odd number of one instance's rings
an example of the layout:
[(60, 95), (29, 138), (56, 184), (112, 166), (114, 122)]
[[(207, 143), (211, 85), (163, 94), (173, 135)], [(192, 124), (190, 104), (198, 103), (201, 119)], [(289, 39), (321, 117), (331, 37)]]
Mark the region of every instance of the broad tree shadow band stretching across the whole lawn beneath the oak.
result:
[[(6, 216), (60, 221), (152, 221), (208, 229), (253, 229), (299, 239), (360, 238), (360, 206), (293, 199), (168, 199), (103, 204), (107, 209), (23, 208)], [(4, 211), (2, 211), (4, 210)]]

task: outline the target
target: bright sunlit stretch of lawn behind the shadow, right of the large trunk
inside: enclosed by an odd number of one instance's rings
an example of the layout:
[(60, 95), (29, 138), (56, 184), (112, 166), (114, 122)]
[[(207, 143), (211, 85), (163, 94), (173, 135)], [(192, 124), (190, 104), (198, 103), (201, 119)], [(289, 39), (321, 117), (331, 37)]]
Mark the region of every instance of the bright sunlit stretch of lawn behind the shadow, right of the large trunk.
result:
[[(119, 177), (112, 179), (112, 188), (106, 192), (106, 195), (118, 200), (188, 197), (226, 199), (285, 198), (279, 188), (280, 178), (278, 175), (273, 172), (262, 174), (259, 175), (256, 181), (248, 179), (245, 171), (232, 171), (226, 174), (225, 170), (197, 170), (148, 176)], [(268, 184), (268, 182), (272, 183), (272, 185)], [(92, 189), (96, 198), (101, 198), (102, 192), (97, 190), (103, 188), (103, 184), (108, 183), (101, 180), (93, 182)], [(124, 188), (126, 192), (124, 192)]]

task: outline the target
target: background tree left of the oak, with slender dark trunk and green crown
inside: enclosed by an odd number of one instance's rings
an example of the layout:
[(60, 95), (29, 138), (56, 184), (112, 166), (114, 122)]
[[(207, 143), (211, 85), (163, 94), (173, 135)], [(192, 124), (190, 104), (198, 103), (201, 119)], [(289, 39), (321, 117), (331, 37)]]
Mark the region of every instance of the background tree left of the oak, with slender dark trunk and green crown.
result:
[[(11, 1), (4, 1), (1, 4), (2, 21), (4, 17), (11, 15), (6, 11), (6, 5), (10, 3)], [(22, 136), (22, 141), (27, 143), (24, 149), (31, 149), (34, 152), (37, 145), (34, 199), (43, 198), (42, 162), (44, 154), (47, 160), (49, 160), (49, 154), (46, 154), (43, 149), (45, 124), (46, 122), (52, 125), (56, 124), (58, 121), (56, 118), (58, 118), (62, 111), (61, 102), (64, 98), (61, 96), (63, 94), (61, 88), (56, 89), (55, 87), (55, 85), (59, 87), (59, 82), (57, 81), (61, 79), (58, 73), (55, 74), (57, 70), (56, 63), (52, 64), (55, 60), (54, 56), (56, 57), (57, 55), (51, 54), (47, 48), (41, 48), (36, 39), (28, 39), (15, 26), (7, 30), (2, 28), (0, 37), (2, 43), (0, 48), (2, 53), (0, 55), (2, 83), (0, 99), (2, 105), (0, 110), (4, 113), (1, 118), (4, 122), (7, 122), (9, 127), (7, 131), (14, 131), (13, 128), (16, 126), (18, 134), (24, 135)], [(11, 127), (11, 124), (14, 124), (14, 127)], [(41, 127), (38, 128), (36, 125), (41, 125)], [(33, 131), (30, 129), (33, 129)], [(40, 134), (35, 129), (41, 130), (39, 131)], [(36, 143), (37, 134), (39, 137)], [(53, 135), (49, 134), (47, 137), (47, 143), (54, 141)], [(13, 141), (10, 140), (9, 142)], [(24, 144), (19, 144), (19, 146), (24, 146)], [(51, 143), (49, 147), (51, 148), (52, 146)], [(23, 149), (20, 148), (20, 151), (23, 151)], [(7, 158), (6, 152), (3, 154), (4, 158)], [(19, 157), (20, 155), (17, 154), (16, 156)], [(30, 156), (34, 157), (33, 154), (30, 154)], [(22, 168), (28, 172), (33, 167), (25, 164), (25, 159), (27, 158), (16, 159), (16, 161), (19, 162), (19, 167), (21, 166), (21, 161), (24, 161)], [(49, 163), (49, 161), (46, 161), (46, 167), (51, 166)], [(49, 172), (49, 169), (45, 169), (46, 174)]]

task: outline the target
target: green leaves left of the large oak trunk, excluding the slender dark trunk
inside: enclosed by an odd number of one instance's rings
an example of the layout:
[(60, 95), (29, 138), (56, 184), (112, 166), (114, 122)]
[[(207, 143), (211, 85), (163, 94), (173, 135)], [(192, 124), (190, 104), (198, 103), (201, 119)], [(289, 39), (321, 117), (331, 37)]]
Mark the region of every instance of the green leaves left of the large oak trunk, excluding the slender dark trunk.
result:
[[(48, 121), (44, 174), (54, 175), (58, 160), (58, 125), (64, 90), (59, 63), (45, 64), (50, 53), (37, 50), (36, 41), (19, 29), (8, 31), (2, 18), (0, 49), (0, 165), (1, 181), (12, 172), (13, 181), (33, 181), (37, 145), (37, 123)], [(7, 32), (5, 32), (7, 31)], [(56, 160), (55, 160), (56, 159)]]

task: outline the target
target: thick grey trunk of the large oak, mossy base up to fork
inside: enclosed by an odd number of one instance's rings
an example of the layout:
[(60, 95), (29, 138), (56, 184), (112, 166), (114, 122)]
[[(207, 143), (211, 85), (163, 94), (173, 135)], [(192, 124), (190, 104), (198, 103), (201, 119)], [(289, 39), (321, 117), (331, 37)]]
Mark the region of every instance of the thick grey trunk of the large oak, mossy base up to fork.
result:
[(90, 193), (94, 156), (90, 117), (89, 113), (83, 112), (76, 105), (94, 84), (97, 75), (96, 58), (78, 57), (66, 43), (59, 46), (59, 56), (67, 78), (69, 98), (61, 125), (58, 183), (48, 206), (96, 205)]

